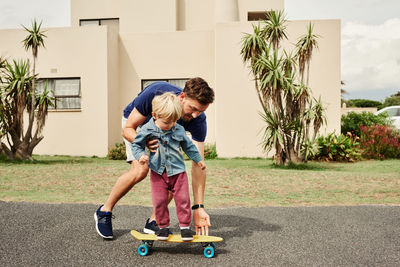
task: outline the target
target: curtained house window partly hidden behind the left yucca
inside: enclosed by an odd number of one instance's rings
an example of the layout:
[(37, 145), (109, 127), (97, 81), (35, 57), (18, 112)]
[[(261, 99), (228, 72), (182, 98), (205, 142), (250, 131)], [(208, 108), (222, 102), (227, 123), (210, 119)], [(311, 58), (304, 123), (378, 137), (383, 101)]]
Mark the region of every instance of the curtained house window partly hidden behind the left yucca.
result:
[(80, 78), (40, 79), (37, 85), (38, 94), (43, 92), (46, 85), (50, 95), (55, 98), (54, 107), (49, 109), (81, 108)]

